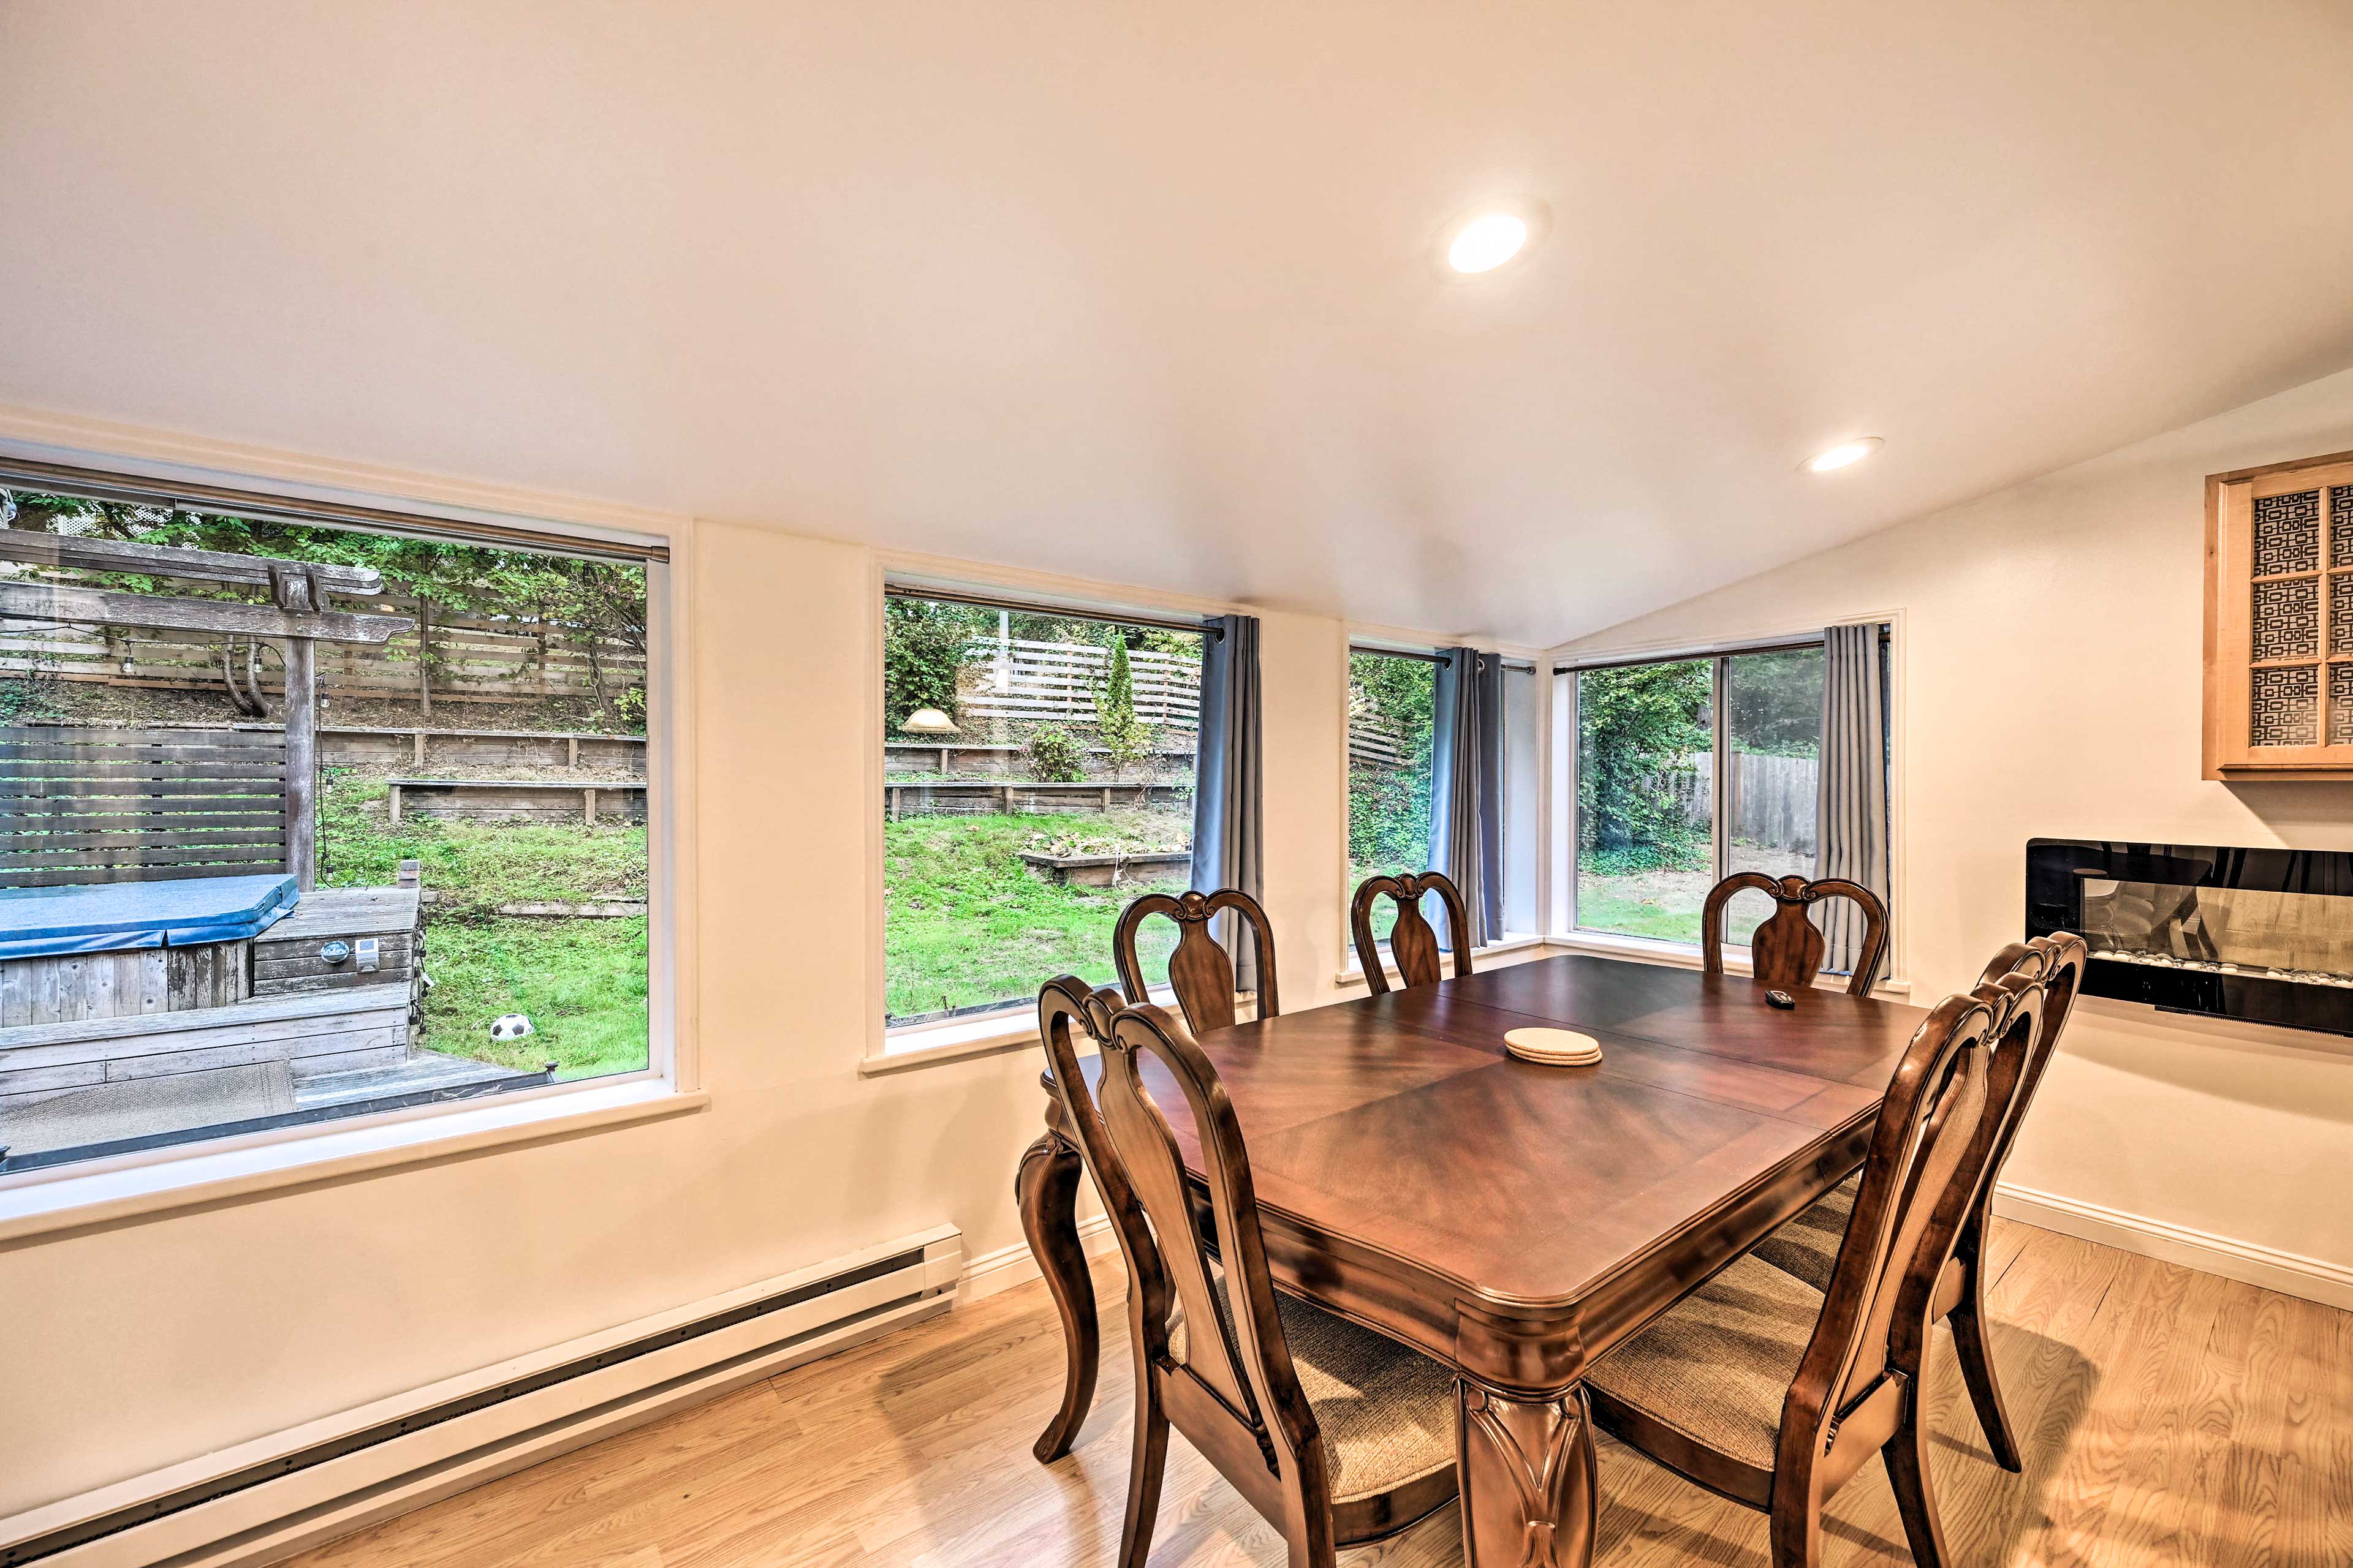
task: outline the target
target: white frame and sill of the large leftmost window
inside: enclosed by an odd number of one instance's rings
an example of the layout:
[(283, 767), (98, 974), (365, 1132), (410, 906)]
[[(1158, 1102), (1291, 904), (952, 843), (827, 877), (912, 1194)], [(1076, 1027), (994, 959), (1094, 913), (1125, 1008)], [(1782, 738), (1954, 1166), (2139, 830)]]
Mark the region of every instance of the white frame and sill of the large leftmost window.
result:
[(139, 437), (82, 421), (45, 421), (31, 433), (0, 421), (0, 475), (113, 501), (198, 501), (205, 510), (353, 531), (487, 548), (588, 548), (647, 569), (647, 1065), (494, 1098), (0, 1173), (0, 1241), (708, 1105), (694, 1051), (694, 994), (680, 985), (694, 954), (692, 517), (191, 437)]

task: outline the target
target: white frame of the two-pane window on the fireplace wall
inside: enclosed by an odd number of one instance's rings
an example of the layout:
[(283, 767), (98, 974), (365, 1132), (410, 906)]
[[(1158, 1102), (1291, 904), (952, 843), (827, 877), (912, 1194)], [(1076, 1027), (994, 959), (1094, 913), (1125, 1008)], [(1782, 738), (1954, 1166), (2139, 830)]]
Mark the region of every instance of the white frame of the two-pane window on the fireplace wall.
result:
[[(1904, 825), (1904, 611), (1880, 611), (1861, 616), (1842, 616), (1831, 621), (1831, 625), (1878, 625), (1880, 628), (1880, 658), (1885, 668), (1885, 703), (1887, 703), (1887, 912), (1889, 912), (1889, 952), (1887, 973), (1878, 980), (1873, 990), (1906, 994), (1911, 990), (1911, 966), (1908, 966), (1908, 926), (1901, 919), (1906, 903), (1906, 825)], [(1791, 630), (1777, 635), (1758, 635), (1732, 642), (1704, 642), (1704, 644), (1678, 644), (1661, 649), (1624, 649), (1624, 651), (1593, 651), (1584, 656), (1569, 656), (1558, 651), (1553, 658), (1553, 748), (1551, 759), (1555, 769), (1555, 802), (1558, 802), (1558, 835), (1553, 839), (1551, 863), (1555, 867), (1551, 903), (1546, 905), (1553, 917), (1553, 931), (1546, 938), (1558, 947), (1602, 952), (1621, 957), (1645, 957), (1668, 964), (1687, 964), (1692, 969), (1701, 961), (1699, 943), (1675, 943), (1666, 938), (1649, 936), (1626, 936), (1619, 931), (1586, 929), (1577, 924), (1577, 844), (1581, 835), (1579, 820), (1579, 783), (1581, 783), (1581, 715), (1579, 715), (1579, 684), (1577, 677), (1588, 670), (1607, 670), (1621, 665), (1649, 665), (1649, 663), (1687, 663), (1687, 661), (1713, 661), (1711, 670), (1711, 736), (1715, 745), (1711, 748), (1711, 863), (1718, 867), (1718, 879), (1725, 865), (1725, 771), (1729, 759), (1729, 745), (1725, 738), (1725, 661), (1739, 658), (1744, 654), (1786, 654), (1807, 646), (1824, 646), (1824, 635), (1819, 628)], [(1725, 943), (1725, 969), (1734, 973), (1748, 973), (1748, 947), (1737, 943)]]

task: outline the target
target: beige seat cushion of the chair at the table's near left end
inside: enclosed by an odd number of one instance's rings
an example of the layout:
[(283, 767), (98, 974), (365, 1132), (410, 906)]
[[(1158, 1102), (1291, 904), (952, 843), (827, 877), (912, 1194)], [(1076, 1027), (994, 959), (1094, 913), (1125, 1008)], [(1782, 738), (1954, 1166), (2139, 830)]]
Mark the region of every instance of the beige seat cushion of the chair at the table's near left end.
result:
[[(1219, 1312), (1231, 1314), (1226, 1281), (1214, 1284)], [(1332, 1502), (1388, 1493), (1454, 1465), (1449, 1366), (1282, 1291), (1275, 1314), (1325, 1434)], [(1169, 1324), (1169, 1354), (1186, 1359), (1181, 1314)]]

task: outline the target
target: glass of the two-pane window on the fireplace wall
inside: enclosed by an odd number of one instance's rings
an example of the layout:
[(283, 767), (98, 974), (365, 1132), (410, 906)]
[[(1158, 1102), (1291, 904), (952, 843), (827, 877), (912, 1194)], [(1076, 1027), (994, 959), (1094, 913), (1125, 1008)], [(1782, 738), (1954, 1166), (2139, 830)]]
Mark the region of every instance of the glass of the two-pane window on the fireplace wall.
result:
[[(1882, 691), (1885, 658), (1882, 632)], [(1579, 931), (1697, 945), (1718, 879), (1814, 875), (1819, 642), (1574, 677)], [(1772, 907), (1734, 896), (1725, 940), (1744, 945)]]

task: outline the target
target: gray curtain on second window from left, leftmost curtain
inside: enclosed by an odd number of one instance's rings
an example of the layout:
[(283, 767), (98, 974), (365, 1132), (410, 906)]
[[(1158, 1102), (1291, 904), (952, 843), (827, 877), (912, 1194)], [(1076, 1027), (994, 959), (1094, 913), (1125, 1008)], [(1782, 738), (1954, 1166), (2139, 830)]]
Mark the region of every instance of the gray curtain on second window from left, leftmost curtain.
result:
[[(1193, 889), (1240, 889), (1266, 898), (1264, 757), (1259, 741), (1259, 618), (1224, 616), (1202, 639), (1200, 771), (1193, 790)], [(1219, 914), (1235, 983), (1259, 985), (1257, 945), (1233, 914)]]

